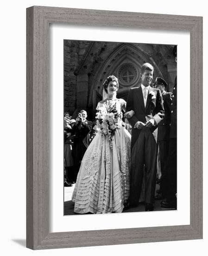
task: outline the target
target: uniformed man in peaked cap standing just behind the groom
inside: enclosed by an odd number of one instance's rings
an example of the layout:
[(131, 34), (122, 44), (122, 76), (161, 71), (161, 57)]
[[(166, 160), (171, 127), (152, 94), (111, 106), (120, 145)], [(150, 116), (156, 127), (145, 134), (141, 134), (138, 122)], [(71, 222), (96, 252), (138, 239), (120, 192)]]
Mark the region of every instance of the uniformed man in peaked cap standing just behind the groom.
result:
[(159, 194), (156, 199), (165, 198), (167, 190), (167, 160), (170, 141), (170, 108), (171, 108), (171, 94), (165, 91), (167, 87), (166, 81), (163, 78), (157, 77), (155, 80), (155, 88), (161, 91), (164, 106), (164, 119), (158, 124), (158, 147), (159, 147), (159, 160), (161, 166), (161, 180)]

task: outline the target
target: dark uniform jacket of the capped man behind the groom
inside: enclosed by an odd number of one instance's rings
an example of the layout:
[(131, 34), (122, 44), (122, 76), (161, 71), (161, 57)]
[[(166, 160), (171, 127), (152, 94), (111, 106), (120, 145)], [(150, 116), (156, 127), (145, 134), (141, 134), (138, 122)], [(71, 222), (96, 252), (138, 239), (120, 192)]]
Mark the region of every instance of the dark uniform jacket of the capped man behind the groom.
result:
[(164, 118), (158, 124), (158, 141), (168, 141), (170, 138), (170, 108), (171, 108), (171, 95), (170, 93), (164, 92), (163, 106), (164, 106)]

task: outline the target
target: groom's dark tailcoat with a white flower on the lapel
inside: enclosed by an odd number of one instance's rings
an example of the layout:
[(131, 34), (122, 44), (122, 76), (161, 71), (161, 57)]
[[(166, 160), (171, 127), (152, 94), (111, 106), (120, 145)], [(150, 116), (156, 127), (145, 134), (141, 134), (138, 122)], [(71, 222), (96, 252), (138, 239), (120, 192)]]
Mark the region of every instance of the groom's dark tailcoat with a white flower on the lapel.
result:
[[(156, 96), (155, 99), (152, 99), (151, 92)], [(130, 89), (126, 103), (126, 111), (129, 110), (134, 111), (134, 115), (129, 119), (129, 122), (132, 125), (133, 146), (141, 131), (134, 128), (137, 121), (146, 123), (146, 121), (154, 118), (156, 125), (150, 128), (151, 132), (153, 132), (164, 117), (164, 106), (160, 90), (152, 87), (149, 88), (145, 107), (142, 88), (138, 87)]]

